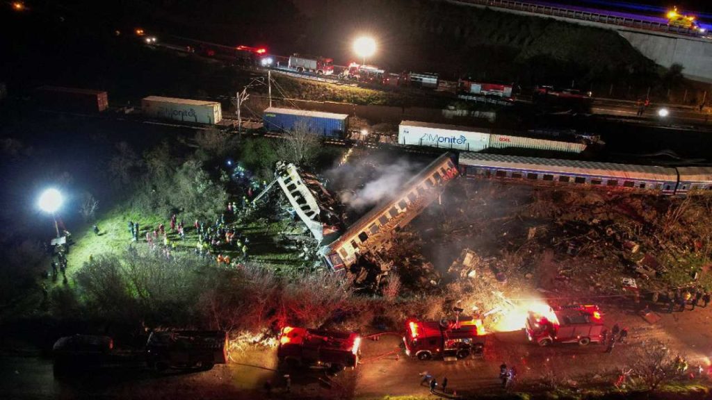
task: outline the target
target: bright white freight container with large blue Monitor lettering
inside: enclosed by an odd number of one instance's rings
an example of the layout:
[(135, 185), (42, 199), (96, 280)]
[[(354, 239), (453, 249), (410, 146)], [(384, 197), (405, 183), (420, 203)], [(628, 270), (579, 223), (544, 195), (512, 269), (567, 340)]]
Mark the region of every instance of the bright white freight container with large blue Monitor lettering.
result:
[(490, 131), (484, 128), (403, 121), (398, 127), (398, 143), (478, 152), (486, 149)]

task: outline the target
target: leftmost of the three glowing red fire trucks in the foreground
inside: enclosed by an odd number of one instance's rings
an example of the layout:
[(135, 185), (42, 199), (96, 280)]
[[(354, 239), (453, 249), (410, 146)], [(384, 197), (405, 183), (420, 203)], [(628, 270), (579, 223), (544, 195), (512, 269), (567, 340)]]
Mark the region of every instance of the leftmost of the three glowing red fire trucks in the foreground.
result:
[(277, 357), (288, 367), (327, 368), (339, 372), (356, 367), (361, 337), (354, 332), (333, 332), (284, 327), (279, 336)]

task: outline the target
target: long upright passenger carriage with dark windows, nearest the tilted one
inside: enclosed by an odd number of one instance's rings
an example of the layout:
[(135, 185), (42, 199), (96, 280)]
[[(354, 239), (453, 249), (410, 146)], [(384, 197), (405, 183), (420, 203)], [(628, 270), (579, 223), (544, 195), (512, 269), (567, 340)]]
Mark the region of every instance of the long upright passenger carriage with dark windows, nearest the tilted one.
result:
[(537, 181), (549, 184), (604, 186), (658, 194), (675, 194), (678, 179), (674, 168), (587, 162), (537, 157), (461, 152), (464, 177)]

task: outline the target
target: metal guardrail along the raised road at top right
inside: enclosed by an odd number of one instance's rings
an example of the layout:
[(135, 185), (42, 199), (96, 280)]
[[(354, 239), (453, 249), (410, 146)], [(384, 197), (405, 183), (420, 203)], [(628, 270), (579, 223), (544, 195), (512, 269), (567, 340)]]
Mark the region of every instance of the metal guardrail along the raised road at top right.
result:
[(558, 16), (562, 18), (578, 19), (581, 21), (590, 21), (597, 23), (606, 23), (609, 25), (626, 26), (628, 28), (646, 29), (649, 31), (659, 31), (667, 33), (675, 33), (684, 36), (698, 36), (697, 32), (678, 26), (669, 26), (667, 23), (644, 21), (642, 19), (624, 18), (622, 16), (614, 16), (609, 14), (597, 14), (587, 11), (579, 11), (573, 9), (563, 9), (555, 6), (543, 6), (540, 4), (523, 3), (522, 1), (512, 0), (458, 0), (462, 3), (481, 4), (483, 6), (499, 7), (502, 9), (511, 9), (517, 11), (525, 11), (533, 14), (542, 14), (546, 16)]

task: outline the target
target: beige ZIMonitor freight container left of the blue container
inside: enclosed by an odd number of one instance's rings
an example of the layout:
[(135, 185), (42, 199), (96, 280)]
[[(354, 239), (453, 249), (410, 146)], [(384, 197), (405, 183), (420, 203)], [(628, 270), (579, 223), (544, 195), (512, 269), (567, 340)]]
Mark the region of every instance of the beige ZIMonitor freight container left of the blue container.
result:
[(219, 102), (149, 96), (141, 101), (145, 115), (165, 120), (217, 124), (222, 120)]

